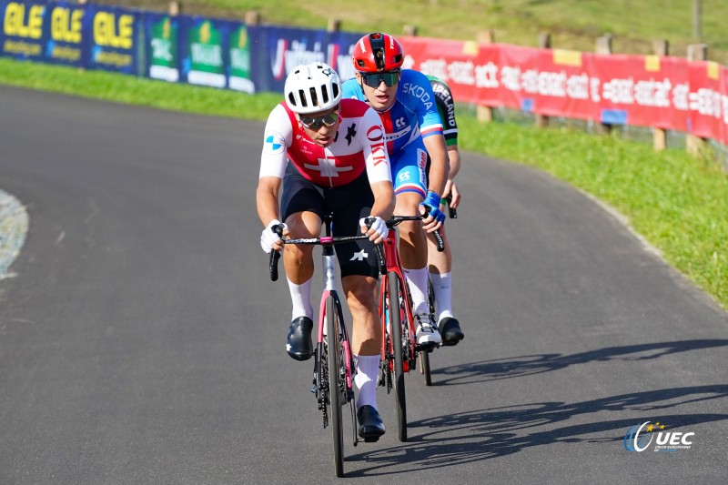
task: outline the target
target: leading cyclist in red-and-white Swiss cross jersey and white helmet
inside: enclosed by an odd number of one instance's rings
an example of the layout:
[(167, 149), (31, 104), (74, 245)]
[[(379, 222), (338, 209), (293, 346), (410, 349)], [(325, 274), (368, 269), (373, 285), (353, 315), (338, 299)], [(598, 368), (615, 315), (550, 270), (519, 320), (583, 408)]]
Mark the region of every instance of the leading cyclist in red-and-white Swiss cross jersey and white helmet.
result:
[[(375, 393), (382, 336), (375, 297), (379, 264), (373, 243), (386, 235), (384, 221), (395, 203), (384, 129), (365, 103), (341, 99), (339, 75), (324, 63), (294, 68), (284, 94), (285, 102), (268, 116), (260, 157), (256, 197), (258, 217), (266, 227), (260, 245), (267, 253), (282, 248), (273, 230), (281, 224), (278, 217), (285, 221), (284, 236), (319, 237), (323, 218), (330, 212), (339, 236), (353, 236), (359, 230), (369, 235), (337, 246), (336, 254), (353, 319), (359, 436), (377, 440), (385, 429)], [(365, 217), (374, 217), (370, 228)], [(286, 246), (283, 263), (293, 303), (286, 349), (293, 359), (306, 360), (313, 355), (313, 247)]]

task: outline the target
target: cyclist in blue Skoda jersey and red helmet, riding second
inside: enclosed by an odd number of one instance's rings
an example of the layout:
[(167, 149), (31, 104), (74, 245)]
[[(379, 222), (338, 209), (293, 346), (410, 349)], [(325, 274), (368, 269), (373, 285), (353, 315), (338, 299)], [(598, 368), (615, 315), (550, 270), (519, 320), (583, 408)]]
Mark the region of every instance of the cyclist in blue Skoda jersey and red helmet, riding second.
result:
[[(395, 212), (399, 216), (430, 213), (421, 222), (399, 225), (399, 255), (410, 283), (418, 343), (434, 347), (442, 339), (427, 301), (428, 251), (422, 228), (433, 232), (442, 225), (445, 215), (440, 211), (440, 194), (448, 179), (448, 153), (435, 96), (425, 75), (401, 68), (404, 51), (391, 35), (364, 35), (354, 46), (352, 61), (356, 77), (344, 83), (343, 96), (366, 101), (379, 112), (387, 132), (397, 196)], [(429, 181), (425, 173), (428, 153)]]

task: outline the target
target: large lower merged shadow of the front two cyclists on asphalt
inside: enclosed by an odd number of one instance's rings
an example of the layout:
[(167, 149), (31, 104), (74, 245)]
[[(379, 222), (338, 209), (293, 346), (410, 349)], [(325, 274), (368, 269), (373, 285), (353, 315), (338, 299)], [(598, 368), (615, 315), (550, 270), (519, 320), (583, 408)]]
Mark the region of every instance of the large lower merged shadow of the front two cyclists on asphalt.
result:
[[(681, 426), (728, 419), (728, 414), (665, 414), (666, 409), (728, 397), (728, 385), (660, 389), (578, 403), (541, 402), (482, 409), (411, 422), (406, 443), (367, 450), (347, 458), (359, 466), (348, 475), (379, 476), (489, 460), (552, 443), (607, 442), (621, 446), (635, 419), (592, 421), (554, 427), (581, 414), (639, 411)], [(416, 431), (420, 430), (421, 433)], [(608, 436), (604, 436), (607, 433)]]

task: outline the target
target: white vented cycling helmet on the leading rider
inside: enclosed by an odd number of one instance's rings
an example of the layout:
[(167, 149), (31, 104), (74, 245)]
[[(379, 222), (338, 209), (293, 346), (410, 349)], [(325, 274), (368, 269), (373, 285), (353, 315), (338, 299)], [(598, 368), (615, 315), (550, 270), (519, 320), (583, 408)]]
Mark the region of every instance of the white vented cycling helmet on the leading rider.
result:
[(339, 104), (341, 81), (333, 67), (326, 63), (302, 64), (290, 72), (283, 92), (286, 104), (294, 113), (317, 113)]

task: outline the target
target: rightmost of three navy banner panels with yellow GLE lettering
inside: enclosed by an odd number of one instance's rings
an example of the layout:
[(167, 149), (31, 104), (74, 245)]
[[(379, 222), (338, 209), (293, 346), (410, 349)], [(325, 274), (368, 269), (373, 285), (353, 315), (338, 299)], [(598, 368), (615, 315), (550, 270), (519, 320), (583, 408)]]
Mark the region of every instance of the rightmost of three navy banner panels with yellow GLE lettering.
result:
[(118, 7), (88, 5), (83, 28), (87, 35), (85, 66), (89, 69), (144, 75), (141, 13)]

